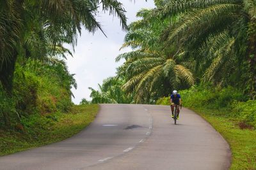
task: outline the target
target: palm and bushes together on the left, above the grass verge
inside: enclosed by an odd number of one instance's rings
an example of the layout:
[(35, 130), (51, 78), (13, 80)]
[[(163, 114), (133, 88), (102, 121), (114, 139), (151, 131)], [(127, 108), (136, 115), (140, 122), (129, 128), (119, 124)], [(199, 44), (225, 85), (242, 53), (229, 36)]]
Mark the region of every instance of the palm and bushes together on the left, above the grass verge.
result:
[(75, 46), (82, 27), (102, 31), (99, 10), (120, 18), (126, 29), (116, 0), (0, 0), (0, 129), (26, 132), (26, 118), (72, 109), (76, 81), (63, 60), (72, 53), (63, 44)]

